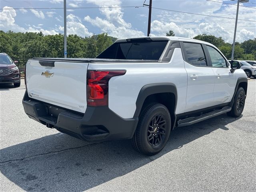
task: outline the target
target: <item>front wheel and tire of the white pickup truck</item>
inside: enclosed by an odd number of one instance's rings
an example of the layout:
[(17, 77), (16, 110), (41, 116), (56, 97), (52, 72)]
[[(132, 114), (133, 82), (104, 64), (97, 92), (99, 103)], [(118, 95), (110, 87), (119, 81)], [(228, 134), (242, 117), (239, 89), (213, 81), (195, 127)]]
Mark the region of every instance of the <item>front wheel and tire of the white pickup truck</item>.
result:
[(232, 117), (239, 117), (244, 110), (244, 103), (245, 92), (242, 87), (239, 87), (234, 97), (234, 104), (232, 106), (232, 109), (227, 114)]

